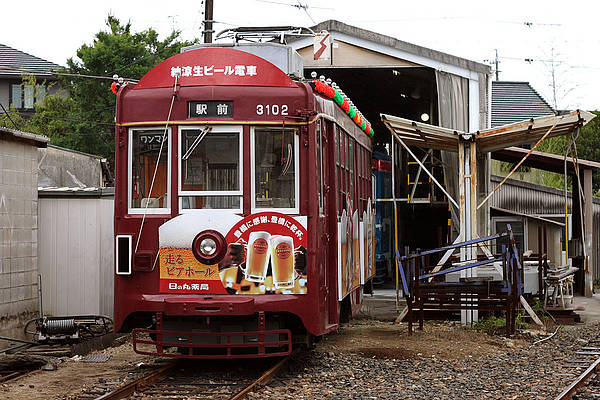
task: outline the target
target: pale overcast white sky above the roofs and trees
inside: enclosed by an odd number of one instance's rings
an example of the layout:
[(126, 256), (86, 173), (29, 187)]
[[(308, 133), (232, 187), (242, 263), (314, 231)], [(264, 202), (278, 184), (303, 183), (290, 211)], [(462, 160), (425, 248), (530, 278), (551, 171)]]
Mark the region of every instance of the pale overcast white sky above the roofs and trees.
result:
[[(214, 0), (214, 29), (336, 19), (493, 69), (497, 51), (500, 80), (530, 82), (559, 109), (600, 109), (600, 1), (300, 0), (306, 10), (291, 6), (298, 1)], [(177, 29), (184, 39), (200, 37), (204, 19), (203, 0), (27, 4), (3, 2), (0, 43), (60, 65), (93, 43), (109, 14), (135, 31)]]

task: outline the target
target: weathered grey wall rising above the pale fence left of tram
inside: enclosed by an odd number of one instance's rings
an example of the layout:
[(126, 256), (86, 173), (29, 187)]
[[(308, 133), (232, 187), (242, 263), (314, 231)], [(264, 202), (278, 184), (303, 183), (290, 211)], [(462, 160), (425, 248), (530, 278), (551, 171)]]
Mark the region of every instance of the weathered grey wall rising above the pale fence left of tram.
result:
[(41, 187), (101, 187), (100, 157), (48, 146), (39, 150)]

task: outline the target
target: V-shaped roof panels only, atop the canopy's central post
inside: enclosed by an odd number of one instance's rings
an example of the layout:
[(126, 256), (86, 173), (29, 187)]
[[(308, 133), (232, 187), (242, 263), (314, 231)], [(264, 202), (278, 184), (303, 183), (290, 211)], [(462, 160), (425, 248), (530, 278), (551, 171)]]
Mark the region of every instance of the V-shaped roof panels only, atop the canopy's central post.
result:
[[(458, 143), (461, 138), (464, 140), (474, 138), (477, 151), (481, 153), (536, 143), (546, 134), (546, 137), (567, 135), (587, 124), (594, 117), (595, 115), (590, 112), (575, 110), (565, 115), (537, 117), (468, 133), (381, 114), (381, 120), (385, 126), (409, 146), (458, 152)], [(552, 128), (553, 126), (554, 128)], [(550, 129), (551, 132), (548, 133)]]

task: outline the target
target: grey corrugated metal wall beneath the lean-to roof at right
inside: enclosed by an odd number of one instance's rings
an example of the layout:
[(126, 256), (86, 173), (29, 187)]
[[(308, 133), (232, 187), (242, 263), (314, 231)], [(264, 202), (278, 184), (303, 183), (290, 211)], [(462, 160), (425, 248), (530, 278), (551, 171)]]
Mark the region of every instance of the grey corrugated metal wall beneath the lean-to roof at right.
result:
[[(495, 187), (502, 177), (491, 177), (492, 186)], [(532, 215), (564, 215), (564, 192), (548, 186), (535, 183), (522, 182), (509, 179), (490, 199), (493, 207), (505, 208)], [(568, 193), (569, 213), (572, 210), (571, 192)], [(600, 232), (600, 198), (594, 197), (594, 232)], [(592, 243), (594, 252), (594, 277), (600, 277), (600, 234), (594, 235)]]

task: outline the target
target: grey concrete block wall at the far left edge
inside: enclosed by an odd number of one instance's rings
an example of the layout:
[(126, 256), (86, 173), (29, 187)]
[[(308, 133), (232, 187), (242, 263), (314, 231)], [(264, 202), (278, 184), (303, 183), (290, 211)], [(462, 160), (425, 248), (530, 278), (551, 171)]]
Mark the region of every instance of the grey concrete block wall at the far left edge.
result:
[(37, 157), (0, 138), (0, 317), (37, 310)]

